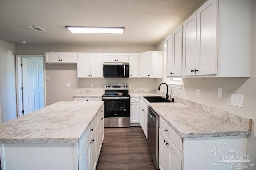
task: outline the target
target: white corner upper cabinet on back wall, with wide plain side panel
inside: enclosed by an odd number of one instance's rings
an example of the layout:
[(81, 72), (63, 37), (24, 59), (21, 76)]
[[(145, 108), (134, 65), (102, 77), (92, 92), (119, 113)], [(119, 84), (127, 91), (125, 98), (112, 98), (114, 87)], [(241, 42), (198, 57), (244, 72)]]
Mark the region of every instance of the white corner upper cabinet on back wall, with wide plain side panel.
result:
[(162, 51), (146, 51), (140, 53), (140, 78), (162, 78), (162, 58)]

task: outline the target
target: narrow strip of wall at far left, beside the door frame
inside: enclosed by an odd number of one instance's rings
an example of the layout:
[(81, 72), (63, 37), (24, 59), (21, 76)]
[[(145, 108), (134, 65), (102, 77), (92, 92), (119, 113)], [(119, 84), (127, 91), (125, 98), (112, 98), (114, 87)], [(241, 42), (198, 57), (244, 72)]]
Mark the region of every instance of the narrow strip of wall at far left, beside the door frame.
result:
[(0, 40), (0, 61), (0, 113), (2, 122), (6, 122), (17, 117), (14, 44)]

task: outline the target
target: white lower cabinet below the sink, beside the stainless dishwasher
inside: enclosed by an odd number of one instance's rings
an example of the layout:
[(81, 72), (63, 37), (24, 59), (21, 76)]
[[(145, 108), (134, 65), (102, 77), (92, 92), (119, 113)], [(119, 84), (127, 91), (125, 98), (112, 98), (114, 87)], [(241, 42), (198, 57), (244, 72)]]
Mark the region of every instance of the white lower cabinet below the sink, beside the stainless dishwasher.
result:
[(148, 105), (140, 99), (140, 126), (148, 139)]

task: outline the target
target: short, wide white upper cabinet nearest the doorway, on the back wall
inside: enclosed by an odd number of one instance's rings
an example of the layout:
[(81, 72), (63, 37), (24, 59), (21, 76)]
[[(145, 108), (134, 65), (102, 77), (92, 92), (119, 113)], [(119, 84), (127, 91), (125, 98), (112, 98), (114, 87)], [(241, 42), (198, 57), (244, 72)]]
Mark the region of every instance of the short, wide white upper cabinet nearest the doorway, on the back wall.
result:
[(50, 64), (77, 63), (77, 53), (45, 53), (45, 63), (50, 63)]

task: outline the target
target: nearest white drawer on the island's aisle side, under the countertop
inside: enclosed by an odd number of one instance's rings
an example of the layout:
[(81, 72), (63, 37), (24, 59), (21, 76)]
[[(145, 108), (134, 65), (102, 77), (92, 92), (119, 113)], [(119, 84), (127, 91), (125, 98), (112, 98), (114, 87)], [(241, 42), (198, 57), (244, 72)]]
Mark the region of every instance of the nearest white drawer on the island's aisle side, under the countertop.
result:
[(89, 125), (89, 128), (86, 130), (84, 135), (81, 137), (80, 142), (78, 143), (78, 154), (79, 155), (84, 150), (92, 133), (96, 130), (96, 125), (97, 125), (97, 117), (94, 117), (94, 119), (92, 120), (92, 123)]

